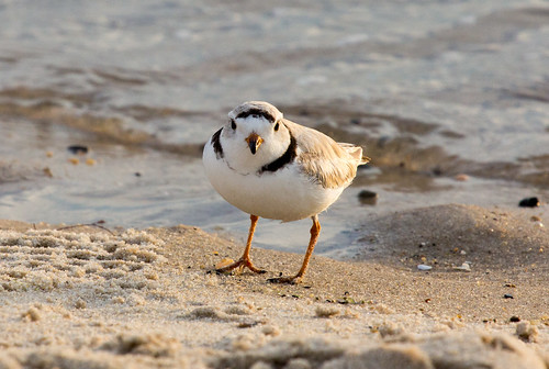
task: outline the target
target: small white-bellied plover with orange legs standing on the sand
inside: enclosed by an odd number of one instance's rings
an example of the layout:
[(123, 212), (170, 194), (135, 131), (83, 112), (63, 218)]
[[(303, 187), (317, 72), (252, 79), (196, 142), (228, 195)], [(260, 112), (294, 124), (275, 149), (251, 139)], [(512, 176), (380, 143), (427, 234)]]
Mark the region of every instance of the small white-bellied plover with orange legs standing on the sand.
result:
[(247, 267), (261, 273), (249, 256), (258, 219), (292, 222), (311, 217), (311, 239), (301, 269), (271, 282), (299, 281), (321, 232), (318, 213), (350, 185), (359, 165), (368, 163), (362, 148), (336, 143), (325, 134), (283, 118), (268, 102), (248, 101), (228, 113), (228, 122), (204, 146), (205, 172), (214, 189), (231, 204), (250, 214), (244, 255), (217, 269)]

